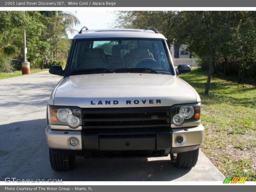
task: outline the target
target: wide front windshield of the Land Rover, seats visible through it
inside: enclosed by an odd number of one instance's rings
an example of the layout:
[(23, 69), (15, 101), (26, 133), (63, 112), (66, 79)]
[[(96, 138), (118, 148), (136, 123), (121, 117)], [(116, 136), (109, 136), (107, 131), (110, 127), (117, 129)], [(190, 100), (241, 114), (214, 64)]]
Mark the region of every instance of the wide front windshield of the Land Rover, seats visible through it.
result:
[(95, 73), (101, 69), (116, 73), (171, 74), (163, 40), (77, 41), (69, 73)]

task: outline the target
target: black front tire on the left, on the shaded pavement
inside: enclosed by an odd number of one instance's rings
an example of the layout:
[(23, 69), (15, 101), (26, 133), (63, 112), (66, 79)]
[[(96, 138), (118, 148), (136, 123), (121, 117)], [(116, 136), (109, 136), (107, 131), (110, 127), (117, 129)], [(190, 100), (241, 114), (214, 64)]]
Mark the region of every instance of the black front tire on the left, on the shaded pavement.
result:
[(76, 156), (56, 154), (49, 149), (50, 163), (54, 171), (69, 171), (75, 167)]

